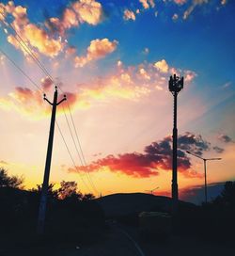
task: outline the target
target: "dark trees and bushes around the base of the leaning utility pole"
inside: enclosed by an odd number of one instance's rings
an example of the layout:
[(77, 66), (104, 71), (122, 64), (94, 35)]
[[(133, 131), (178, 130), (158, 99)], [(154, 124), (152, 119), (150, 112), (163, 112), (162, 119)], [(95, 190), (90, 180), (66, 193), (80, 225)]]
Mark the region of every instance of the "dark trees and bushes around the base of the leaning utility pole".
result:
[[(104, 215), (99, 203), (92, 194), (81, 194), (75, 182), (64, 181), (56, 190), (53, 184), (49, 186), (45, 235), (39, 237), (36, 231), (40, 192), (40, 185), (24, 190), (22, 178), (9, 177), (0, 168), (1, 256), (8, 255), (2, 252), (6, 249), (70, 245), (75, 248), (102, 238)], [(37, 250), (31, 255), (38, 255)]]

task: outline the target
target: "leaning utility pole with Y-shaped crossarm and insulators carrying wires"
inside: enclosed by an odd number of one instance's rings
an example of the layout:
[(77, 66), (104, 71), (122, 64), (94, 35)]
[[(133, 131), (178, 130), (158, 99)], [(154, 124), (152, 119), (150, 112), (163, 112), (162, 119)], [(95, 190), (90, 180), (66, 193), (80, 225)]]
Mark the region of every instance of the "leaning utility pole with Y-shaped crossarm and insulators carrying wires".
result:
[(47, 193), (48, 193), (48, 184), (49, 184), (49, 176), (50, 176), (50, 168), (51, 168), (51, 161), (52, 161), (52, 152), (53, 152), (53, 140), (54, 140), (54, 131), (55, 131), (55, 114), (56, 114), (56, 106), (61, 104), (62, 102), (66, 101), (66, 95), (64, 98), (57, 103), (57, 87), (55, 87), (54, 93), (54, 101), (53, 104), (47, 100), (46, 94), (44, 94), (43, 100), (53, 106), (52, 110), (52, 117), (51, 117), (51, 125), (50, 125), (50, 132), (49, 132), (49, 139), (48, 139), (48, 146), (47, 146), (47, 155), (46, 155), (46, 164), (44, 170), (44, 178), (43, 184), (41, 189), (41, 196), (40, 196), (40, 203), (39, 203), (39, 219), (38, 219), (38, 234), (43, 234), (44, 232), (44, 225), (45, 225), (45, 216), (46, 216), (46, 203), (47, 203)]

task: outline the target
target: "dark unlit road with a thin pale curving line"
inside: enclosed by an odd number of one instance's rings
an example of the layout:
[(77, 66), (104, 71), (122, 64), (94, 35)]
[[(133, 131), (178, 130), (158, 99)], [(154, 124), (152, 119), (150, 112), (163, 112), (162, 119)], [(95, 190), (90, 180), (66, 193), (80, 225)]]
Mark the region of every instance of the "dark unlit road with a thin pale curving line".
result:
[(50, 248), (8, 248), (0, 256), (221, 256), (233, 255), (235, 245), (205, 243), (203, 239), (172, 236), (167, 241), (142, 241), (136, 228), (109, 223), (105, 239), (97, 239), (90, 246), (56, 245)]

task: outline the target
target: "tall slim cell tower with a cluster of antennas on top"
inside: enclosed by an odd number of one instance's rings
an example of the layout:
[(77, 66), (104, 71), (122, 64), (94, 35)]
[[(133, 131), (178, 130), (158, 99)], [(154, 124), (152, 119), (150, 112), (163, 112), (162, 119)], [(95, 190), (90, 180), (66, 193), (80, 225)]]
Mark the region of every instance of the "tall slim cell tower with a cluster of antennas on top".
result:
[(173, 151), (172, 151), (172, 185), (171, 185), (171, 193), (173, 200), (173, 213), (177, 212), (178, 208), (178, 183), (177, 183), (177, 138), (178, 138), (178, 130), (177, 130), (177, 96), (180, 90), (183, 88), (183, 77), (170, 76), (169, 80), (169, 91), (172, 93), (174, 97), (174, 110), (173, 110)]

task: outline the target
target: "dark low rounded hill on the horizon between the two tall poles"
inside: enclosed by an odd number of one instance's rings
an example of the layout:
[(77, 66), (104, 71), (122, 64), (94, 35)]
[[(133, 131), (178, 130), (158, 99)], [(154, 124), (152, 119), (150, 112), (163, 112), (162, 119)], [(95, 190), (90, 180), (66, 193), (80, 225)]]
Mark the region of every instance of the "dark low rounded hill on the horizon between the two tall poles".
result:
[[(144, 193), (113, 194), (97, 199), (105, 216), (127, 216), (140, 212), (162, 211), (170, 212), (171, 199)], [(180, 201), (181, 204), (194, 205)]]

